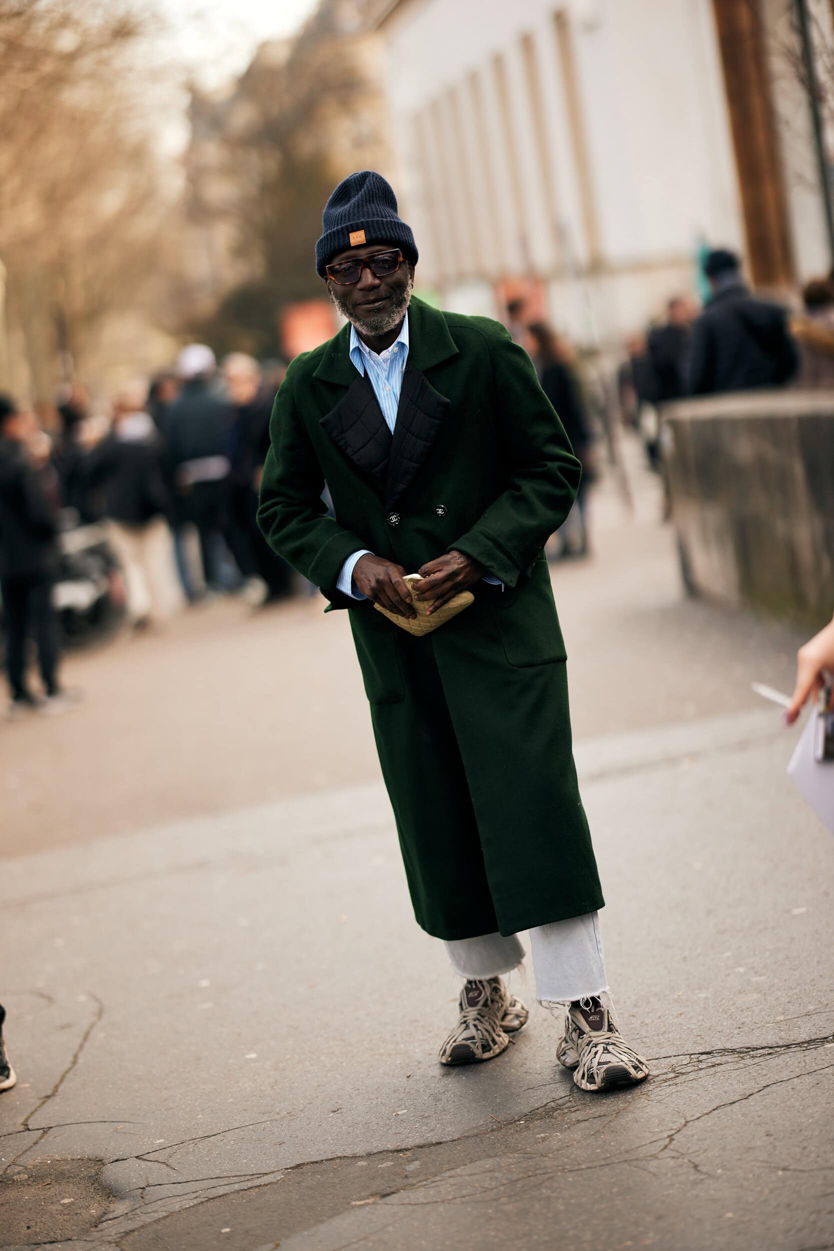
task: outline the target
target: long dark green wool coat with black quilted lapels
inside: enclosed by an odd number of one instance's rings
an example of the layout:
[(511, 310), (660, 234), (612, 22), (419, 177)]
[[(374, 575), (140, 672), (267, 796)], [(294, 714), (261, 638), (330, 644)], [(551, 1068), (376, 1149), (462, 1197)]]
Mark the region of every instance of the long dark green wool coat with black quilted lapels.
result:
[[(350, 362), (349, 327), (295, 358), (258, 519), (331, 608), (350, 610), (418, 922), (439, 938), (511, 934), (603, 904), (541, 550), (580, 467), (496, 322), (414, 299), (409, 340), (393, 438)], [(471, 608), (413, 638), (336, 589), (358, 548), (406, 573), (455, 548), (505, 589), (479, 583)]]

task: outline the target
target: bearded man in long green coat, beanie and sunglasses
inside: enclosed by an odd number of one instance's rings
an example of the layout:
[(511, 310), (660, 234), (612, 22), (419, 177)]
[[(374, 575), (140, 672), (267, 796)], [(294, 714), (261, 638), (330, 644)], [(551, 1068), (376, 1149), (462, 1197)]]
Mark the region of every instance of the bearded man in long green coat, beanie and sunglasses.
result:
[[(465, 978), (440, 1061), (491, 1060), (526, 1022), (500, 975), (529, 929), (536, 996), (564, 1010), (556, 1058), (583, 1090), (641, 1081), (608, 995), (543, 555), (579, 462), (501, 325), (411, 299), (418, 249), (385, 179), (351, 174), (323, 226), (316, 269), (349, 324), (286, 373), (258, 519), (349, 610), (414, 912)], [(415, 598), (434, 624), (461, 592), (433, 632), (398, 628)]]

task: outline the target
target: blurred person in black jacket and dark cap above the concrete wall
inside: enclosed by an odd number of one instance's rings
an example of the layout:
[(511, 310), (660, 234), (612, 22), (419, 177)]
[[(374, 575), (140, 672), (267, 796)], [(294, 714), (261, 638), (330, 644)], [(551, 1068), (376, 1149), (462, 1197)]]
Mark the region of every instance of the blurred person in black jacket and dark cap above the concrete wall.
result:
[(798, 367), (786, 310), (750, 294), (731, 251), (710, 251), (704, 273), (713, 296), (693, 329), (690, 393), (784, 387)]

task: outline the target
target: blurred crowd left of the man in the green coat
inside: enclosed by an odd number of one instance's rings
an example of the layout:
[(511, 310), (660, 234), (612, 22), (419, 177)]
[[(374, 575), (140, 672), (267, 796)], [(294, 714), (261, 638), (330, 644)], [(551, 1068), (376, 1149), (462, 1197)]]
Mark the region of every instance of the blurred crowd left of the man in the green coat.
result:
[(194, 343), (171, 370), (124, 385), (105, 413), (79, 384), (36, 410), (0, 397), (0, 651), (13, 712), (71, 702), (58, 656), (73, 622), (86, 623), (80, 636), (120, 608), (145, 629), (220, 594), (268, 607), (293, 593), (255, 520), (283, 373), (243, 353), (219, 369)]

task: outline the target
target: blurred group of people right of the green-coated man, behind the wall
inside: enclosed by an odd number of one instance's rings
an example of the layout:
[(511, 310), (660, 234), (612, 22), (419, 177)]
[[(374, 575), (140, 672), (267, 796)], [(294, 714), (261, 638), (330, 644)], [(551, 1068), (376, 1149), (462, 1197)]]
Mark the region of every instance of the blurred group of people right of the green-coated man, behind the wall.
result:
[(525, 303), (510, 300), (505, 324), (533, 358), (539, 380), (583, 463), (571, 514), (548, 544), (550, 559), (586, 555), (588, 490), (596, 478), (595, 442), (615, 459), (615, 425), (639, 432), (648, 463), (661, 472), (664, 405), (688, 398), (781, 387), (834, 389), (834, 271), (809, 281), (803, 308), (754, 295), (735, 253), (703, 260), (709, 295), (674, 295), (664, 315), (624, 344), (613, 403), (599, 360), (584, 368), (575, 349), (545, 322), (529, 322)]

